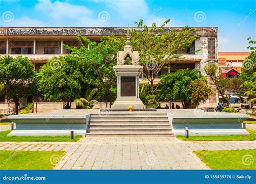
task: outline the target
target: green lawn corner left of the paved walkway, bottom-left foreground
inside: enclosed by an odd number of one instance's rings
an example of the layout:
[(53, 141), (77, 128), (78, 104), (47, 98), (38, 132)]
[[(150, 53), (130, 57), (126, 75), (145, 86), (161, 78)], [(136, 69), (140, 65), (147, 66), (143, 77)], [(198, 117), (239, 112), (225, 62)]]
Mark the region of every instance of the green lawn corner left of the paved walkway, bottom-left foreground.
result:
[(0, 151), (0, 169), (52, 169), (65, 151)]

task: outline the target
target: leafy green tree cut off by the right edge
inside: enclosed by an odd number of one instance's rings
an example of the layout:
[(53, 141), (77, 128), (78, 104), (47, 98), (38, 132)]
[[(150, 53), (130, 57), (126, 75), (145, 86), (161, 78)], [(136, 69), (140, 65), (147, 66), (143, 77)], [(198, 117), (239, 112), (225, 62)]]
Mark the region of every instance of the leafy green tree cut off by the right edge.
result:
[(251, 49), (250, 55), (242, 62), (242, 72), (239, 77), (244, 81), (241, 87), (245, 90), (245, 95), (250, 97), (250, 101), (256, 101), (256, 41), (248, 38), (249, 44), (253, 46), (248, 46)]

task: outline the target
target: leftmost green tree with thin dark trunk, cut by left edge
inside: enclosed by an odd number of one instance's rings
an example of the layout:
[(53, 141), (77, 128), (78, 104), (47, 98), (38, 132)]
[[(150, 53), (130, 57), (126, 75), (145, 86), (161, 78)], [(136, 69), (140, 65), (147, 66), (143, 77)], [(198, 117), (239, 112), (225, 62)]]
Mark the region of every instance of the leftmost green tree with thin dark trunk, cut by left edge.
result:
[(37, 92), (33, 64), (26, 57), (12, 58), (10, 55), (5, 55), (0, 58), (0, 68), (0, 83), (4, 86), (3, 93), (14, 100), (15, 112), (18, 114), (21, 99), (35, 96)]

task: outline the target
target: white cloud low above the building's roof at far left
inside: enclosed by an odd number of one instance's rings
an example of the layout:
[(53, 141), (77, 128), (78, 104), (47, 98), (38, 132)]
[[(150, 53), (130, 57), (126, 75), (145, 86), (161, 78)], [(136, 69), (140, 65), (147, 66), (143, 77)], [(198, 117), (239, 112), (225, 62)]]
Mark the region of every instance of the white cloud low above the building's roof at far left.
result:
[(14, 27), (41, 27), (45, 24), (39, 20), (29, 18), (27, 16), (22, 16), (21, 18), (15, 18), (10, 22), (3, 23), (3, 26), (14, 26)]

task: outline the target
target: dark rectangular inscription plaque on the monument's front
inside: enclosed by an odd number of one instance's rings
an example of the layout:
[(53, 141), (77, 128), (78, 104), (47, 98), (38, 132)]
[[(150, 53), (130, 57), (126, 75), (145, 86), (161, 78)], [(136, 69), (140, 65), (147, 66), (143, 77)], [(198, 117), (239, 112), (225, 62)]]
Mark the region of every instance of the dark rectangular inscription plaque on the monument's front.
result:
[(121, 96), (136, 96), (135, 76), (121, 76)]

